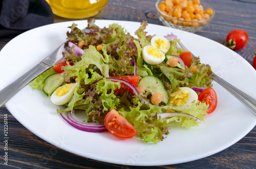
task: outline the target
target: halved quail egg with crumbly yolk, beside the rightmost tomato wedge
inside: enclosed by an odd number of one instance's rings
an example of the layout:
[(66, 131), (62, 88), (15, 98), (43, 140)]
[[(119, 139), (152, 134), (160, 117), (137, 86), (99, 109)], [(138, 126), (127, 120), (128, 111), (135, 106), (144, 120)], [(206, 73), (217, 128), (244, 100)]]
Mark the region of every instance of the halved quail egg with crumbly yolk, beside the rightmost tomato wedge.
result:
[(198, 100), (197, 93), (187, 87), (179, 88), (178, 91), (169, 94), (169, 104), (173, 105), (175, 108), (185, 108), (189, 107)]

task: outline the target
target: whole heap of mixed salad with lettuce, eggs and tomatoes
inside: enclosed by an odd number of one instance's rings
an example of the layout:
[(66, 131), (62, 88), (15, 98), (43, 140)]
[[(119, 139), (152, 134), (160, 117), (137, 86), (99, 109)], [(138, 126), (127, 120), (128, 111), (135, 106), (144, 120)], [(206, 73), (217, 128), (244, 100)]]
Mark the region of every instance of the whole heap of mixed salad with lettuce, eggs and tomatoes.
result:
[[(135, 38), (116, 23), (100, 28), (88, 19), (85, 30), (73, 23), (63, 61), (30, 86), (44, 91), (60, 105), (57, 113), (83, 131), (158, 143), (173, 125), (198, 126), (215, 109), (209, 110), (205, 97), (213, 94), (204, 92), (213, 90), (210, 66), (177, 48), (175, 36), (147, 35), (146, 26), (143, 21)], [(87, 120), (79, 120), (76, 110)]]

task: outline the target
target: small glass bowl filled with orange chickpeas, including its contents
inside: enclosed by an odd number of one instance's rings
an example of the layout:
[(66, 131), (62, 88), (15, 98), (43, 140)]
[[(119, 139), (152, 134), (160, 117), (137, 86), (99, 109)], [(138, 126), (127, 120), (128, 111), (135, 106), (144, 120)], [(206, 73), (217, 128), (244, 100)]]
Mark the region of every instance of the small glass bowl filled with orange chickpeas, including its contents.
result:
[(214, 8), (200, 0), (158, 0), (156, 9), (163, 25), (191, 33), (203, 30), (215, 16)]

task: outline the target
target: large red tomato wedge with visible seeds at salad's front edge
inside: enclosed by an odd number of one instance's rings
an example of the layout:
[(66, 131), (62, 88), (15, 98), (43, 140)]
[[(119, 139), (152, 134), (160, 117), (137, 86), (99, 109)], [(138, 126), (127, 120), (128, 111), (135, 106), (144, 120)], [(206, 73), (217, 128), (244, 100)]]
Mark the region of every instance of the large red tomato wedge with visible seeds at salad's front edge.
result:
[(114, 108), (106, 114), (104, 124), (117, 138), (132, 138), (137, 134), (137, 130)]

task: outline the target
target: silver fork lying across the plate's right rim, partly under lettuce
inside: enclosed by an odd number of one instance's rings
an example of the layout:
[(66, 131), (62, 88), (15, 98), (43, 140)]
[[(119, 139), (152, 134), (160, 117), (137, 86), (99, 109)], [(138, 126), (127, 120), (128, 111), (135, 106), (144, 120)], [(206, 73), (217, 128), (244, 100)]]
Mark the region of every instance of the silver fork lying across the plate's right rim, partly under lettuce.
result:
[[(189, 51), (181, 42), (178, 43), (181, 48)], [(195, 58), (195, 55), (191, 53), (192, 57)], [(230, 83), (222, 79), (220, 76), (212, 73), (212, 79), (214, 79), (217, 83), (219, 83), (223, 88), (225, 88), (229, 93), (231, 93), (234, 97), (236, 97), (239, 101), (241, 101), (254, 115), (256, 115), (256, 100), (245, 94), (241, 90), (232, 86)]]

